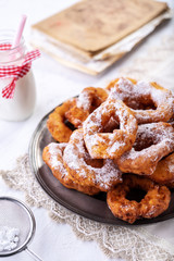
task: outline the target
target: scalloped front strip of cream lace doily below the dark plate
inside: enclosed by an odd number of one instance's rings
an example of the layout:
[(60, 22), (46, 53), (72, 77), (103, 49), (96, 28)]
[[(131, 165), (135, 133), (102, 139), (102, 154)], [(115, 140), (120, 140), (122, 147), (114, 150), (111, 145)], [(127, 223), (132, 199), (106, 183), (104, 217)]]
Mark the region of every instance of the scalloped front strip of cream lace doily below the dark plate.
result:
[(17, 159), (12, 171), (0, 171), (7, 184), (26, 195), (30, 206), (48, 210), (54, 221), (65, 222), (84, 240), (96, 240), (111, 258), (125, 258), (130, 261), (172, 261), (174, 251), (170, 244), (148, 234), (141, 227), (105, 225), (79, 216), (52, 200), (40, 187), (30, 171), (28, 156)]

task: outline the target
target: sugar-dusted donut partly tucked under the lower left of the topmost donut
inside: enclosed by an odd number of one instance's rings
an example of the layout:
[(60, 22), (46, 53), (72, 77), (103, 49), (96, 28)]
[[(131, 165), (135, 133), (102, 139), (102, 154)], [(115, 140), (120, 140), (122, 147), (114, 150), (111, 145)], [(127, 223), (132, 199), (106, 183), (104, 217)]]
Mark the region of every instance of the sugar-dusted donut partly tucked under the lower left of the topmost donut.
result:
[(95, 186), (108, 191), (122, 182), (122, 173), (112, 160), (91, 159), (85, 147), (83, 129), (76, 129), (64, 150), (63, 162), (80, 185)]

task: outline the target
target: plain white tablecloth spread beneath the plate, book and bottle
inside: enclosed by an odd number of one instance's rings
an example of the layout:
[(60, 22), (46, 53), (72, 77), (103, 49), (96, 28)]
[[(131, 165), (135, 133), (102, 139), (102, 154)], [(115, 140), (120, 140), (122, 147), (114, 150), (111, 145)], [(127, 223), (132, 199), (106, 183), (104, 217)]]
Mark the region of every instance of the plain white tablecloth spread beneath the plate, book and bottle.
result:
[[(0, 0), (0, 29), (13, 28), (18, 25), (21, 14), (25, 13), (28, 18), (25, 27), (24, 38), (29, 41), (30, 25), (63, 10), (75, 0)], [(172, 5), (172, 0), (169, 1)], [(104, 86), (114, 78), (120, 69), (128, 66), (151, 47), (158, 45), (163, 37), (172, 34), (173, 22), (161, 26), (156, 33), (148, 37), (144, 44), (134, 50), (122, 61), (114, 64), (104, 74), (94, 77), (67, 69), (52, 60), (46, 53), (33, 64), (37, 85), (37, 104), (32, 117), (24, 122), (0, 121), (0, 170), (10, 170), (15, 166), (17, 157), (27, 152), (30, 136), (41, 117), (61, 101), (77, 95), (86, 86)], [(13, 196), (25, 200), (24, 194), (9, 188), (0, 178), (0, 196)], [(57, 224), (52, 221), (45, 209), (32, 208), (36, 217), (36, 235), (30, 244), (34, 250), (46, 261), (109, 261), (111, 259), (101, 251), (96, 241), (83, 241), (73, 233), (67, 224)], [(170, 222), (170, 221), (169, 221)], [(153, 229), (153, 227), (151, 227)], [(159, 229), (159, 236), (170, 235), (174, 244), (174, 232)], [(166, 235), (167, 234), (167, 235)], [(29, 261), (25, 252), (17, 256), (4, 258), (7, 261)]]

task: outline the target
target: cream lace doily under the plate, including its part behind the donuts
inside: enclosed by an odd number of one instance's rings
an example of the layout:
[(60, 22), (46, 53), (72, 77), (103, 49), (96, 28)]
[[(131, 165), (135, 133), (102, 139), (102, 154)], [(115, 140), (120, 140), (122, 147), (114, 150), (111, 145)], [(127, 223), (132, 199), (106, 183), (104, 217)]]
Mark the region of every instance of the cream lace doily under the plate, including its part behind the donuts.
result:
[[(134, 78), (156, 78), (161, 85), (172, 89), (173, 53), (174, 37), (170, 37), (158, 48), (151, 49), (148, 54), (134, 61), (134, 66), (122, 69), (120, 74)], [(174, 247), (169, 241), (151, 235), (142, 226), (101, 224), (79, 216), (53, 201), (33, 175), (27, 154), (17, 159), (14, 170), (0, 171), (0, 175), (10, 187), (25, 192), (27, 203), (47, 209), (51, 219), (70, 224), (82, 239), (96, 240), (110, 258), (120, 257), (129, 261), (174, 260)]]

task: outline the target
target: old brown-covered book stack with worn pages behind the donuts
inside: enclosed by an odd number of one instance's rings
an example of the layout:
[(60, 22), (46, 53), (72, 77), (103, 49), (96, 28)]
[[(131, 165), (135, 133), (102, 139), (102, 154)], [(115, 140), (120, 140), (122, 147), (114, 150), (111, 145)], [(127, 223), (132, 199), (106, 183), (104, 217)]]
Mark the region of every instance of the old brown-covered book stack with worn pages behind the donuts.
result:
[(84, 0), (33, 25), (32, 44), (59, 62), (98, 74), (171, 13), (153, 0)]

